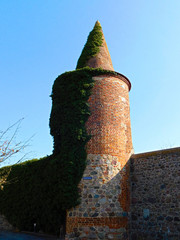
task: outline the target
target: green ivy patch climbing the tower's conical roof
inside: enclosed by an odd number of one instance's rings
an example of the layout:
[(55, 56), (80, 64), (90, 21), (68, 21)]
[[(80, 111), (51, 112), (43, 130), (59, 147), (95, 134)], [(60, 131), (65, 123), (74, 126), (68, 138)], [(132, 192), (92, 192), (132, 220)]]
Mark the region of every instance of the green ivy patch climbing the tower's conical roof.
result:
[(86, 62), (97, 55), (103, 43), (103, 34), (100, 23), (97, 21), (94, 29), (90, 32), (87, 42), (77, 62), (76, 69), (86, 66)]

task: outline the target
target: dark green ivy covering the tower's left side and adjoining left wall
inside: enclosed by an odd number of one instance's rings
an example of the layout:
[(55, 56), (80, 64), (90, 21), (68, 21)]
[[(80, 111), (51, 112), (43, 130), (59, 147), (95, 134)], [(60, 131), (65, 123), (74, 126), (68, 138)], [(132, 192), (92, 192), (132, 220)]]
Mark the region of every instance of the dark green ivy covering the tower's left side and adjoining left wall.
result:
[(83, 68), (60, 75), (52, 91), (53, 155), (0, 169), (0, 213), (20, 230), (33, 224), (56, 233), (67, 209), (79, 204), (78, 184), (86, 167), (85, 123), (93, 76), (115, 72)]

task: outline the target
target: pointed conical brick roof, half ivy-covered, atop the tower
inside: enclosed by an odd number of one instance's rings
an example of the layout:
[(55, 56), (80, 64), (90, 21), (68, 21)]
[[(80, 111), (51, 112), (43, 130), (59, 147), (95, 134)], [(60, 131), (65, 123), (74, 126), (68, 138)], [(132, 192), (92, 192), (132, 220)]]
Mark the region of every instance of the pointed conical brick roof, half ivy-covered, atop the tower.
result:
[(114, 71), (111, 56), (99, 21), (89, 33), (87, 42), (77, 62), (76, 69), (83, 67), (102, 68)]

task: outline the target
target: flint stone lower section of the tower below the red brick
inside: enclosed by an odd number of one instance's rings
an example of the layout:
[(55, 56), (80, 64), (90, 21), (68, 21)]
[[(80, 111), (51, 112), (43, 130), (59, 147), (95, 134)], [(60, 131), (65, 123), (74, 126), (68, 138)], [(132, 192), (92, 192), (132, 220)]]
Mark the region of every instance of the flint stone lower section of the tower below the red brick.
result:
[(119, 200), (127, 193), (120, 184), (127, 166), (123, 168), (118, 157), (106, 154), (89, 154), (87, 159), (79, 184), (81, 204), (67, 212), (66, 239), (127, 240), (129, 214)]

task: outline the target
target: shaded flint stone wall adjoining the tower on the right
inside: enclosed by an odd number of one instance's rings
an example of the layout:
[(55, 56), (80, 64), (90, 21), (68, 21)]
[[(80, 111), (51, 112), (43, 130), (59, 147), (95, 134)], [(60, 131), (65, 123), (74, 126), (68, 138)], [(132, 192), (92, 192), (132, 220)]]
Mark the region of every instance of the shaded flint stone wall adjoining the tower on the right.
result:
[(131, 240), (180, 239), (180, 148), (131, 158)]

